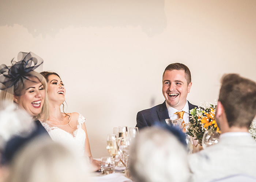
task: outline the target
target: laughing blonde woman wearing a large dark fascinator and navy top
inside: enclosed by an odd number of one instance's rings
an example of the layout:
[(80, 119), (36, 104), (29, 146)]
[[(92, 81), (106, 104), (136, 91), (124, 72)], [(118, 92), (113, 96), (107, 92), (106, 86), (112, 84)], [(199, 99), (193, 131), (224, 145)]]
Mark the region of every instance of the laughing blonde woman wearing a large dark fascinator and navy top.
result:
[[(48, 135), (39, 119), (49, 116), (47, 83), (45, 78), (34, 71), (43, 60), (32, 52), (19, 52), (18, 61), (11, 61), (11, 66), (0, 66), (0, 99), (5, 105), (16, 103), (29, 114), (34, 130), (26, 137), (16, 136), (7, 142), (1, 163), (8, 163), (25, 143), (32, 138)], [(42, 119), (43, 121), (43, 119)], [(48, 135), (49, 137), (49, 135)]]

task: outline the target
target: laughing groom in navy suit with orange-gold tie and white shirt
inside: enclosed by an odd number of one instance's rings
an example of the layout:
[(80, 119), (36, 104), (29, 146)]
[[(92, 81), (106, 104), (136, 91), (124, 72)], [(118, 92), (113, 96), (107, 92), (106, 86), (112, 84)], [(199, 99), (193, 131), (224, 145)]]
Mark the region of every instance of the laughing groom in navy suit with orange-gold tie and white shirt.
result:
[(139, 129), (165, 123), (165, 119), (177, 119), (177, 112), (184, 111), (183, 120), (189, 122), (189, 110), (197, 106), (187, 100), (191, 89), (191, 73), (189, 68), (181, 63), (169, 64), (163, 72), (162, 92), (165, 102), (150, 109), (139, 111), (136, 127)]

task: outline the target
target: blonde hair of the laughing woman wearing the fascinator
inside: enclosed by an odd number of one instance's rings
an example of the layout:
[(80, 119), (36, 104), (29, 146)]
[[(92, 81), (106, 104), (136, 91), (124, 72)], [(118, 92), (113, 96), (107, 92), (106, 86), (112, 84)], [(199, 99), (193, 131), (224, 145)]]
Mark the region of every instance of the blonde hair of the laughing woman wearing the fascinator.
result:
[[(41, 118), (44, 118), (42, 122), (45, 122), (48, 117), (49, 117), (49, 100), (48, 100), (48, 95), (47, 95), (47, 82), (41, 74), (39, 74), (36, 71), (30, 71), (29, 73), (26, 74), (26, 78), (29, 79), (29, 77), (35, 77), (37, 78), (42, 85), (44, 86), (45, 90), (45, 100), (44, 100), (44, 105), (42, 106), (42, 111), (40, 114), (37, 116), (34, 116), (34, 120), (39, 120)], [(23, 80), (24, 81), (24, 80)], [(14, 103), (14, 95), (20, 96), (22, 90), (24, 89), (24, 84), (23, 81), (20, 79), (17, 84), (14, 86), (7, 88), (6, 90), (1, 90), (0, 92), (0, 100), (5, 101), (5, 106)]]

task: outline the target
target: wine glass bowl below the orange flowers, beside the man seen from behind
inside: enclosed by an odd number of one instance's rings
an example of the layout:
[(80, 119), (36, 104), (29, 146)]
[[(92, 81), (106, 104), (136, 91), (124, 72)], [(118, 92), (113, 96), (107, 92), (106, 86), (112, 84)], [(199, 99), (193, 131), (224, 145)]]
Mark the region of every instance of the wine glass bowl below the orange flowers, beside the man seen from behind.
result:
[(203, 135), (202, 146), (205, 149), (208, 146), (214, 145), (219, 141), (220, 132), (216, 130), (206, 130)]

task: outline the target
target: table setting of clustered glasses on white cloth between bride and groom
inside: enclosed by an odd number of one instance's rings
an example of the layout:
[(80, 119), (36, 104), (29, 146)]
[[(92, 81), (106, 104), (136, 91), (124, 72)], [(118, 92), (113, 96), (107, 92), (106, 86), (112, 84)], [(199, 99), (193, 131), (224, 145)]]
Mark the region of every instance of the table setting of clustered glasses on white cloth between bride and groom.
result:
[(138, 127), (118, 126), (107, 135), (106, 149), (110, 156), (98, 159), (101, 170), (94, 173), (91, 179), (95, 182), (132, 182), (129, 179), (128, 158), (129, 146), (138, 135)]

